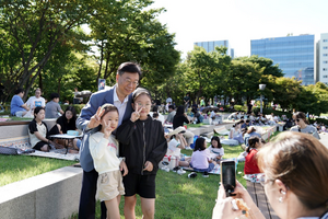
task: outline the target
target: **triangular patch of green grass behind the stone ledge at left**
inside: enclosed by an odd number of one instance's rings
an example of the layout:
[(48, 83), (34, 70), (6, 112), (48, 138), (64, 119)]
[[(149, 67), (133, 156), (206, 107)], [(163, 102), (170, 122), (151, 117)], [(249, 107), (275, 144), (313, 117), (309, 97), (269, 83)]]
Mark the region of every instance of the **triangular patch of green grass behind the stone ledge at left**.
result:
[(77, 162), (30, 155), (0, 154), (0, 186), (74, 163)]

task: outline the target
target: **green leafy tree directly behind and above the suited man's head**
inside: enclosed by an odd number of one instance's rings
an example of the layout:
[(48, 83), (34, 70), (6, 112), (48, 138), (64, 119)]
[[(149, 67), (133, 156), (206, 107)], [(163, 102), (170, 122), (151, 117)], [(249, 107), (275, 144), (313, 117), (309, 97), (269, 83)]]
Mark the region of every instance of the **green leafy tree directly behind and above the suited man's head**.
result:
[(127, 60), (142, 66), (142, 85), (152, 89), (174, 74), (179, 53), (174, 49), (174, 34), (155, 18), (163, 9), (145, 10), (152, 1), (116, 1), (112, 13), (99, 13), (90, 27), (98, 47), (97, 78), (115, 76), (117, 67)]

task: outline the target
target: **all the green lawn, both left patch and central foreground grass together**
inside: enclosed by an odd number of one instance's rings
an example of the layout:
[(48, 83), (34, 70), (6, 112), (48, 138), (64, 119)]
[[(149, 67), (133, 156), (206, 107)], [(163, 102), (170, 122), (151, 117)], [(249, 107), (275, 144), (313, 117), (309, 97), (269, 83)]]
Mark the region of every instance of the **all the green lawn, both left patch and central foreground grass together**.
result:
[[(224, 147), (224, 158), (236, 158), (241, 152), (239, 146)], [(192, 151), (181, 150), (181, 153), (191, 155)], [(0, 155), (0, 186), (21, 181), (34, 175), (49, 172), (62, 166), (72, 165), (73, 161), (27, 155)], [(237, 180), (245, 186), (243, 178), (244, 162), (238, 163)], [(198, 174), (196, 178), (188, 178), (188, 172), (178, 175), (174, 172), (159, 170), (156, 176), (155, 218), (211, 218), (215, 204), (220, 175), (210, 175), (204, 178)], [(124, 217), (124, 198), (120, 203), (121, 218)], [(136, 216), (141, 219), (142, 212), (138, 198)], [(96, 218), (101, 217), (101, 205), (96, 205)], [(72, 216), (78, 218), (77, 215)]]

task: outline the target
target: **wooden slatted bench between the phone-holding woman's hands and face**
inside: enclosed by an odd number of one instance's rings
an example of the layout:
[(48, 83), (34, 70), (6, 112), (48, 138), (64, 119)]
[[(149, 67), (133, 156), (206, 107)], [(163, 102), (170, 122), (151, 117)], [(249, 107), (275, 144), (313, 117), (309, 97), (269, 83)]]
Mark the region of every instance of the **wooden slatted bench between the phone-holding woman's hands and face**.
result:
[(249, 193), (250, 197), (253, 198), (254, 203), (260, 209), (262, 215), (266, 219), (279, 219), (277, 214), (273, 211), (270, 203), (265, 193), (265, 188), (259, 183), (251, 183), (250, 181), (247, 182), (247, 192)]

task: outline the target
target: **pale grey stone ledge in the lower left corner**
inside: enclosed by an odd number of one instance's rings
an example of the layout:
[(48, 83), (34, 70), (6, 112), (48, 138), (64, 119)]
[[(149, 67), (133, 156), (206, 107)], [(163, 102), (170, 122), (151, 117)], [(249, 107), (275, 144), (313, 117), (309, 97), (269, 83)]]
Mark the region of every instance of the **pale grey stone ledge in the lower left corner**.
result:
[(0, 187), (1, 218), (57, 219), (78, 212), (81, 168), (66, 166)]

